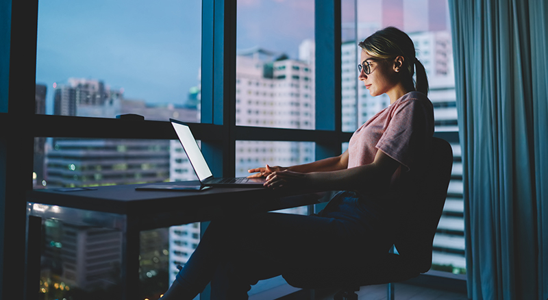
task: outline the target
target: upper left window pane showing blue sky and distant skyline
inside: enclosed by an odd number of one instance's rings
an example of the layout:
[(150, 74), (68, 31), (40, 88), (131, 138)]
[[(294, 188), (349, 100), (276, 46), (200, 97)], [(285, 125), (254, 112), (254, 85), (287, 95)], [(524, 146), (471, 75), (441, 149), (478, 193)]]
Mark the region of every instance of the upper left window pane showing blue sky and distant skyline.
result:
[(201, 1), (38, 3), (37, 112), (199, 121)]

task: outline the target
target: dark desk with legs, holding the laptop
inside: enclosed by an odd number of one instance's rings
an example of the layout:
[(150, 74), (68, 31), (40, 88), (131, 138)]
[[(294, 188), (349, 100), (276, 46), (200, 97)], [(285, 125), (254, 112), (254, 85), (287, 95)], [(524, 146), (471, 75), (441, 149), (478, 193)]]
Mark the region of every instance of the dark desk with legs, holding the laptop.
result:
[(25, 299), (38, 299), (42, 218), (121, 231), (122, 299), (138, 299), (141, 231), (210, 221), (225, 214), (250, 214), (312, 205), (319, 199), (306, 191), (275, 192), (264, 188), (138, 191), (135, 190), (137, 186), (140, 185), (103, 186), (95, 190), (69, 192), (55, 189), (27, 192)]

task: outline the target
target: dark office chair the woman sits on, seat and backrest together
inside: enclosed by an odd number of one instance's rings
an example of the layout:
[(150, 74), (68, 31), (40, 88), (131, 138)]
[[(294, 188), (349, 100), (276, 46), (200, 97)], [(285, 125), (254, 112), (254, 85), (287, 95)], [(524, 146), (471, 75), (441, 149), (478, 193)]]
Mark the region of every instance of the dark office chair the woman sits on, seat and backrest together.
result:
[(321, 265), (284, 274), (286, 282), (297, 288), (340, 288), (335, 300), (358, 299), (360, 286), (388, 284), (388, 299), (394, 299), (391, 282), (401, 282), (425, 273), (432, 266), (432, 242), (447, 197), (453, 151), (449, 142), (432, 139), (426, 172), (419, 182), (419, 197), (405, 201), (408, 212), (399, 219), (401, 231), (392, 249), (377, 257), (365, 257), (351, 266), (323, 268)]

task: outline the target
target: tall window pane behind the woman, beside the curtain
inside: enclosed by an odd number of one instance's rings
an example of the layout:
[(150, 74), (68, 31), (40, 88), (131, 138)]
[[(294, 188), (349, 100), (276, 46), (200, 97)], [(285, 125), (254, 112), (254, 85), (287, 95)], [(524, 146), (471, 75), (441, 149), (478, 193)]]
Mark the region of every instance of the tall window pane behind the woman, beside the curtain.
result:
[[(428, 97), (434, 104), (436, 132), (450, 132), (454, 135), (454, 140), (458, 140), (453, 49), (447, 0), (343, 0), (342, 5), (343, 131), (353, 132), (390, 103), (386, 95), (369, 95), (369, 91), (358, 81), (356, 66), (360, 55), (358, 42), (378, 29), (394, 26), (410, 36), (416, 48), (416, 57), (425, 66), (430, 88)], [(456, 148), (458, 144), (453, 145), (453, 149)], [(449, 195), (434, 238), (432, 268), (465, 273), (460, 151), (454, 151), (454, 155)]]

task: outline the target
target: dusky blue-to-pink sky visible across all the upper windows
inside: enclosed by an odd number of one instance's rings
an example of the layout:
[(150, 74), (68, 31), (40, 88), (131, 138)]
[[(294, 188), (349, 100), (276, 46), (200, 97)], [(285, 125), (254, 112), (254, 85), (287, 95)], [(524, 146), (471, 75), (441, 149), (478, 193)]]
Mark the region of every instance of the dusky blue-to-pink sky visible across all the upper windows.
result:
[[(425, 19), (416, 7), (432, 0), (384, 1), (399, 8), (382, 14), (380, 1), (359, 0), (358, 21), (401, 23), (406, 20), (402, 9)], [(342, 2), (343, 23), (353, 23), (354, 1)], [(147, 103), (183, 104), (199, 82), (199, 0), (47, 0), (38, 5), (36, 82), (47, 86), (49, 114), (53, 84), (66, 84), (69, 77), (99, 79), (112, 89), (123, 88), (126, 99)], [(262, 47), (297, 58), (302, 40), (314, 38), (314, 0), (238, 0), (237, 14), (238, 50)], [(406, 22), (412, 30), (424, 27), (420, 21)]]

